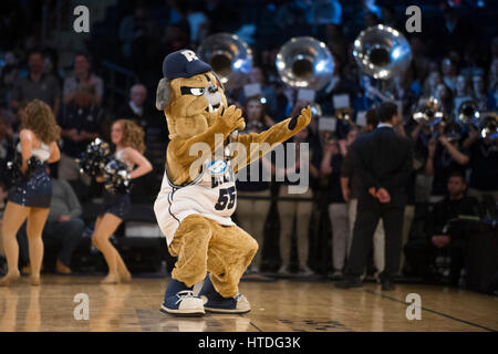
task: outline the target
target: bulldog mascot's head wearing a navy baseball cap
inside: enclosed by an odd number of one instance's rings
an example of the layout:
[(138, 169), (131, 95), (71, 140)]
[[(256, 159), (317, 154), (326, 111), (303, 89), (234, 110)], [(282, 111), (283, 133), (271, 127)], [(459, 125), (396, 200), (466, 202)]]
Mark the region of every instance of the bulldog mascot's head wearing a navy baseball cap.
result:
[(156, 107), (166, 116), (172, 140), (205, 132), (214, 124), (215, 113), (227, 107), (219, 77), (190, 50), (168, 54), (163, 76), (157, 85)]

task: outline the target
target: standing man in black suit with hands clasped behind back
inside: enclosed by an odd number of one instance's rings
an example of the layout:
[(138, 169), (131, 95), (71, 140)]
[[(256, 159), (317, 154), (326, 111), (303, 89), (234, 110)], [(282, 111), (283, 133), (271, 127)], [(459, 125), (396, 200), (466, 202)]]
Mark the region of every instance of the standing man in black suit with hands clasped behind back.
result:
[(402, 118), (394, 103), (378, 108), (380, 124), (373, 132), (353, 144), (355, 170), (362, 188), (357, 200), (353, 243), (345, 279), (336, 288), (362, 287), (361, 274), (372, 248), (372, 237), (382, 218), (385, 231), (385, 267), (381, 274), (382, 289), (394, 289), (393, 275), (400, 268), (403, 218), (407, 196), (405, 186), (413, 168), (412, 143), (394, 128)]

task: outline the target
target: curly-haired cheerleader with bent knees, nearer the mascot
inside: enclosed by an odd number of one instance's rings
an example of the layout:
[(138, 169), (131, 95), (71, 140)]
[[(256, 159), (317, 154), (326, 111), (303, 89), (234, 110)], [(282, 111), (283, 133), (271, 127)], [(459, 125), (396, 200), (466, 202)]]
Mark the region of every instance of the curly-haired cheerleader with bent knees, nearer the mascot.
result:
[[(138, 125), (128, 119), (116, 121), (111, 128), (111, 140), (116, 145), (114, 158), (128, 166), (131, 179), (152, 171), (151, 163), (142, 155), (145, 150), (144, 131)], [(103, 177), (96, 179), (103, 181)], [(110, 241), (129, 207), (129, 194), (104, 190), (104, 211), (97, 217), (92, 236), (93, 244), (104, 254), (108, 267), (108, 274), (102, 280), (104, 284), (116, 284), (132, 279), (126, 264)]]

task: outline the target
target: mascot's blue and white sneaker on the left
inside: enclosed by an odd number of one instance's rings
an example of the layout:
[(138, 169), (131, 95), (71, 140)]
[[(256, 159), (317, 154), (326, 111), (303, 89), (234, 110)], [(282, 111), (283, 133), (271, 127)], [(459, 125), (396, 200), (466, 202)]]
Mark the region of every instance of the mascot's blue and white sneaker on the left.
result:
[(183, 282), (173, 279), (168, 283), (160, 311), (179, 316), (201, 316), (204, 301), (194, 296), (193, 287), (187, 288)]

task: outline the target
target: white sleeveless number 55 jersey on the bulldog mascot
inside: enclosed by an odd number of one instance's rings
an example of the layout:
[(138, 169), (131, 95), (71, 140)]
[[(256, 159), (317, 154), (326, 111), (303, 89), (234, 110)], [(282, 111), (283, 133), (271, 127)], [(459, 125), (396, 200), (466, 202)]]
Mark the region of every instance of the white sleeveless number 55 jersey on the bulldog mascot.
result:
[(154, 212), (169, 246), (181, 220), (199, 215), (220, 225), (236, 225), (230, 216), (237, 206), (235, 174), (228, 160), (217, 159), (203, 165), (203, 171), (190, 184), (174, 185), (165, 170)]

